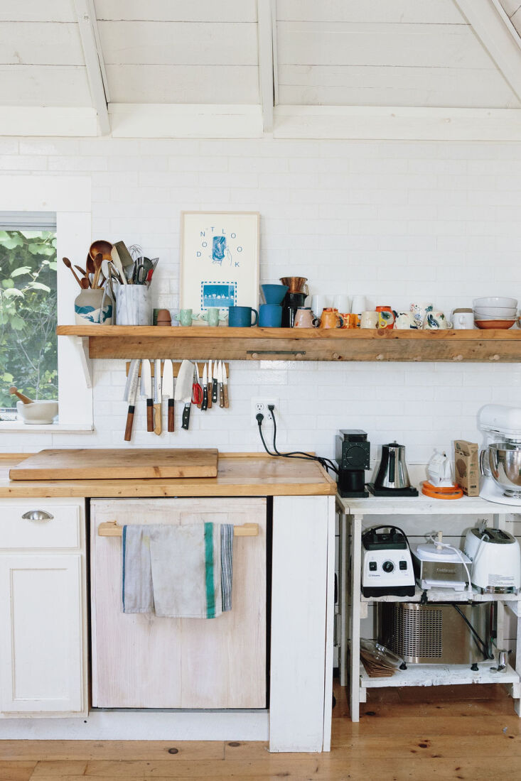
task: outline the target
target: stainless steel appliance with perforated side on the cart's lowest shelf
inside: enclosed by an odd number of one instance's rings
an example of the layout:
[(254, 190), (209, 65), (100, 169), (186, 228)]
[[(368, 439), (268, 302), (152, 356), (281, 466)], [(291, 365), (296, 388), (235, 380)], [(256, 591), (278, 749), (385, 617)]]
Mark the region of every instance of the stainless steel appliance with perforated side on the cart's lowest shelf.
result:
[(490, 609), (483, 602), (382, 602), (379, 641), (408, 664), (476, 665), (489, 656)]

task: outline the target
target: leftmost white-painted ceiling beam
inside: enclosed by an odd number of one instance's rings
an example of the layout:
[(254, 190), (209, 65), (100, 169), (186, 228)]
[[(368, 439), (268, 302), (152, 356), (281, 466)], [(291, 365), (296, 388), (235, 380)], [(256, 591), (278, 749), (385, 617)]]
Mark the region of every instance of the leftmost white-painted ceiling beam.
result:
[(106, 80), (105, 63), (99, 39), (93, 0), (74, 0), (77, 24), (80, 30), (81, 45), (87, 67), (88, 86), (91, 91), (92, 105), (98, 114), (99, 130), (102, 136), (110, 135), (110, 100)]

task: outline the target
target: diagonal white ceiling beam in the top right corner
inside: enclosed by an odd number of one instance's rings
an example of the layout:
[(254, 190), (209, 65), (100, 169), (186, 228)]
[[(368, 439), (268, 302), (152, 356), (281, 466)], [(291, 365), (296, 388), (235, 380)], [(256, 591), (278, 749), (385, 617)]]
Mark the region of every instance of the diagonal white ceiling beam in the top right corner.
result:
[(521, 101), (521, 38), (500, 0), (454, 0)]

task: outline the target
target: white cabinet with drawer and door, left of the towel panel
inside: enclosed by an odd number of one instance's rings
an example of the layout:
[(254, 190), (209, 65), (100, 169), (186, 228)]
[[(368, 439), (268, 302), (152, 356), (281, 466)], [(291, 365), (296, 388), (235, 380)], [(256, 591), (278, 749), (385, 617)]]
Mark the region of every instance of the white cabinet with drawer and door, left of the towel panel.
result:
[(83, 501), (0, 502), (3, 716), (86, 711), (84, 578)]

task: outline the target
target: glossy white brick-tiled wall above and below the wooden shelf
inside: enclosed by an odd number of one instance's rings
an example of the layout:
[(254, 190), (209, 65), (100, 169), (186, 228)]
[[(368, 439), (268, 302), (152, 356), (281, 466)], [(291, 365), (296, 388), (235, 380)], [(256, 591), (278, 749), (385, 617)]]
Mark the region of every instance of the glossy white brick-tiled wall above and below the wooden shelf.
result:
[[(0, 168), (90, 177), (93, 237), (160, 256), (157, 306), (178, 305), (181, 209), (260, 211), (264, 281), (298, 274), (313, 292), (394, 308), (521, 298), (521, 144), (5, 139)], [(250, 398), (266, 394), (280, 399), (285, 448), (330, 456), (336, 430), (360, 427), (374, 452), (397, 439), (425, 462), (455, 437), (476, 440), (477, 409), (518, 404), (520, 386), (514, 365), (232, 362), (229, 411), (194, 410), (189, 433), (179, 420), (156, 437), (141, 405), (133, 444), (258, 449)], [(2, 451), (123, 446), (123, 387), (124, 362), (95, 362), (95, 434), (3, 434)]]

